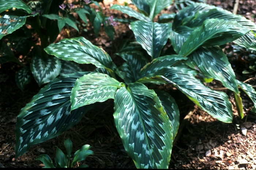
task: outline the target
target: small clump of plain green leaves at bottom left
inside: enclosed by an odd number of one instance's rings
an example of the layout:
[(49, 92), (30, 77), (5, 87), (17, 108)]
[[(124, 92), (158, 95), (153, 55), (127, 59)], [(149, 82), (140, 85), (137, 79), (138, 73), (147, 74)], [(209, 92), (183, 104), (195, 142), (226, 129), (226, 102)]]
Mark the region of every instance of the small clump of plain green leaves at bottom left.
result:
[[(60, 148), (58, 148), (56, 146), (56, 157), (54, 158), (54, 160), (55, 160), (57, 168), (73, 167), (74, 165), (76, 165), (77, 162), (83, 161), (89, 155), (93, 155), (93, 151), (89, 150), (91, 148), (91, 146), (86, 144), (86, 145), (82, 146), (78, 151), (75, 152), (75, 154), (73, 156), (74, 158), (72, 158), (73, 161), (72, 161), (71, 165), (69, 165), (70, 160), (71, 160), (71, 153), (72, 153), (71, 140), (69, 138), (64, 140), (64, 145), (65, 145), (67, 154), (64, 154), (63, 151), (61, 151)], [(46, 168), (54, 168), (55, 167), (53, 165), (50, 157), (46, 154), (40, 155), (35, 160), (42, 161)], [(80, 165), (78, 167), (86, 168), (89, 166), (88, 165)]]

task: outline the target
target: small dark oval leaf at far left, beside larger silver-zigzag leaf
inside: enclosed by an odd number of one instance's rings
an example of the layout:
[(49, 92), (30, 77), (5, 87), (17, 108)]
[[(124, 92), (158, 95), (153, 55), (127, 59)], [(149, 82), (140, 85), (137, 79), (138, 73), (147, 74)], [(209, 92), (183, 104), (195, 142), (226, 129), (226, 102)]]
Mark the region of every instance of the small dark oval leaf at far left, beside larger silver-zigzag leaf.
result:
[(31, 74), (29, 67), (22, 67), (16, 74), (15, 74), (15, 81), (20, 90), (24, 90), (25, 86), (29, 84), (32, 80), (33, 76)]

